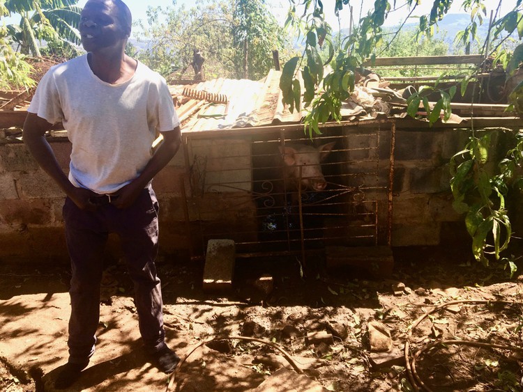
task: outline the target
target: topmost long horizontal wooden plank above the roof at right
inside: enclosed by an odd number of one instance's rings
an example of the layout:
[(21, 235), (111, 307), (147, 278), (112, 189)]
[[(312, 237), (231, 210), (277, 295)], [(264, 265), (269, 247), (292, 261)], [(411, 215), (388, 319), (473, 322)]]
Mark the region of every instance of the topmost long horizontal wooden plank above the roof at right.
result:
[(479, 64), (485, 56), (480, 54), (464, 54), (462, 56), (412, 56), (412, 57), (379, 57), (372, 61), (365, 59), (366, 67), (383, 65), (435, 65), (435, 64)]

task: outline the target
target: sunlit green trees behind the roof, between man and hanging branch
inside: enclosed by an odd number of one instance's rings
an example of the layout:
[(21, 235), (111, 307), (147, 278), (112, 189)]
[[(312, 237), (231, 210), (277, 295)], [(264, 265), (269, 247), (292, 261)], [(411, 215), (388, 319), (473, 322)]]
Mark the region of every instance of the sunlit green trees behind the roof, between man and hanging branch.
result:
[(272, 50), (284, 58), (290, 50), (264, 0), (197, 0), (189, 9), (176, 3), (149, 8), (146, 24), (139, 27), (149, 44), (137, 57), (173, 79), (187, 70), (194, 75), (190, 67), (194, 49), (205, 58), (206, 79), (260, 79), (273, 67)]

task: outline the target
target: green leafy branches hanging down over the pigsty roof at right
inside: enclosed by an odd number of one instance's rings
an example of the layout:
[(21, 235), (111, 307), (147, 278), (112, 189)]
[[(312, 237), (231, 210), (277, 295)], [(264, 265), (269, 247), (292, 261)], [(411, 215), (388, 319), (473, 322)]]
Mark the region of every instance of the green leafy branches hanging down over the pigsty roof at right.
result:
[[(432, 2), (430, 14), (419, 17), (418, 39), (430, 39), (434, 36), (437, 23), (448, 13), (451, 3), (452, 0), (434, 0)], [(411, 11), (409, 15), (412, 15), (418, 6), (418, 1), (407, 0), (405, 4), (398, 4), (395, 1), (376, 0), (374, 8), (351, 27), (349, 35), (339, 36), (337, 39), (333, 39), (331, 26), (325, 21), (324, 4), (321, 0), (289, 0), (289, 6), (285, 26), (294, 26), (303, 34), (305, 49), (303, 49), (301, 57), (291, 58), (282, 70), (280, 83), (282, 102), (287, 104), (291, 111), (300, 110), (302, 107), (305, 109), (303, 120), (305, 132), (312, 137), (313, 134), (320, 133), (319, 124), (328, 120), (341, 120), (342, 102), (347, 100), (354, 91), (356, 73), (362, 70), (362, 65), (367, 58), (370, 58), (372, 63), (379, 55), (379, 51), (391, 45), (391, 42), (384, 40), (383, 26), (393, 12), (393, 6), (397, 8), (407, 6)], [(347, 6), (349, 6), (349, 0), (335, 1), (334, 14), (340, 18), (340, 11)], [(457, 39), (463, 42), (478, 40), (478, 26), (487, 20), (485, 1), (464, 0), (462, 8), (471, 15), (471, 22), (465, 26), (464, 31), (457, 34)], [(301, 12), (298, 12), (298, 9)], [(515, 7), (509, 13), (501, 17), (499, 15), (494, 17), (491, 41), (499, 40), (503, 34), (510, 36), (513, 33), (517, 33), (517, 36), (522, 39), (522, 11), (522, 0), (517, 0)], [(398, 32), (395, 33), (394, 38), (397, 37)], [(505, 39), (501, 39), (501, 42)], [(488, 49), (484, 45), (480, 49), (480, 54), (495, 54), (497, 61), (501, 58), (505, 62), (510, 60), (510, 54), (500, 49), (499, 45), (492, 48), (490, 52), (487, 52)], [(516, 58), (517, 64), (520, 61), (519, 57), (513, 56)], [(328, 65), (327, 68), (326, 65)], [(447, 120), (451, 113), (450, 99), (456, 91), (463, 94), (467, 90), (467, 85), (474, 80), (478, 69), (471, 68), (467, 75), (463, 75), (460, 86), (455, 86), (450, 91), (440, 90), (437, 84), (431, 88), (421, 89), (409, 100), (407, 112), (410, 116), (418, 116), (418, 109), (420, 105), (423, 105), (431, 124), (441, 117), (441, 113), (444, 120)], [(303, 80), (304, 88), (301, 100), (297, 99), (301, 95), (302, 89), (298, 75)], [(427, 96), (434, 91), (439, 92), (441, 97), (434, 107), (430, 107)], [(519, 102), (517, 105), (521, 105), (521, 100), (516, 100), (516, 102)], [(515, 109), (518, 107), (520, 106), (515, 106)]]

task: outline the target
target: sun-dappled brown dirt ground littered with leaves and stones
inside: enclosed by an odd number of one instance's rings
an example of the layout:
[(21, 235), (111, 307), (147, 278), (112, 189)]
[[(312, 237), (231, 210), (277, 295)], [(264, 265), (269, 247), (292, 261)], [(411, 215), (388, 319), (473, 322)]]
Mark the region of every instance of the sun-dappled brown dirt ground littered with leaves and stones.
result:
[[(306, 269), (298, 258), (238, 260), (227, 297), (202, 291), (203, 262), (160, 260), (167, 342), (190, 354), (171, 378), (142, 352), (132, 283), (114, 262), (96, 353), (70, 391), (522, 391), (523, 276), (485, 269), (466, 249), (394, 258), (388, 279), (326, 272), (321, 258)], [(272, 290), (253, 283), (261, 274)], [(66, 265), (0, 262), (0, 391), (53, 391), (67, 360), (69, 279)], [(370, 349), (370, 324), (387, 352)]]

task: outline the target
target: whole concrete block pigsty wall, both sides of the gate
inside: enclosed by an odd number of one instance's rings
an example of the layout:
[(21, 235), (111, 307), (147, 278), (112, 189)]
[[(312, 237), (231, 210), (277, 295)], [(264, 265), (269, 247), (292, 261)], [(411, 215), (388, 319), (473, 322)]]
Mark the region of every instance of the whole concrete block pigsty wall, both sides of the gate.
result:
[[(491, 157), (496, 159), (499, 151), (505, 150), (513, 138), (513, 132), (499, 129), (476, 132), (492, 133), (494, 147)], [(469, 136), (470, 130), (396, 130), (393, 246), (436, 245), (459, 235), (467, 238), (463, 217), (452, 208), (448, 162), (464, 148)], [(238, 141), (235, 151), (248, 165), (245, 158), (250, 143), (248, 136), (245, 136), (245, 141), (248, 143)], [(59, 164), (67, 171), (70, 143), (66, 138), (54, 138), (50, 143)], [(374, 146), (377, 141), (373, 139), (369, 143)], [(381, 160), (380, 185), (388, 184), (390, 145), (391, 131), (384, 128), (380, 130), (377, 152), (373, 152), (379, 154)], [(206, 143), (197, 144), (199, 150), (205, 150), (205, 146)], [(221, 150), (220, 143), (209, 146)], [(186, 160), (189, 162), (190, 159), (185, 159), (184, 153), (184, 148), (181, 148), (153, 181), (160, 201), (160, 253), (205, 246), (198, 234), (203, 226), (211, 227), (215, 233), (225, 228), (234, 232), (255, 232), (256, 205), (249, 198), (249, 187), (246, 185), (245, 189), (239, 187), (218, 194), (192, 194), (185, 167)], [(219, 169), (216, 169), (216, 175), (220, 175)], [(222, 169), (229, 171), (227, 167)], [(238, 182), (248, 182), (248, 174), (237, 175)], [(184, 201), (182, 188), (185, 188), (188, 203)], [(62, 191), (38, 167), (22, 143), (0, 143), (0, 262), (68, 259), (63, 239), (63, 198)], [(386, 200), (380, 208), (386, 211)], [(523, 207), (520, 205), (519, 208)], [(215, 216), (202, 214), (202, 211), (212, 209), (216, 211)], [(190, 217), (190, 224), (185, 221), (186, 214)], [(456, 233), (450, 233), (451, 230), (456, 230)]]

